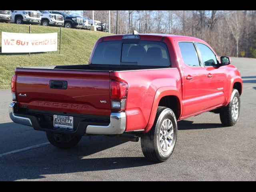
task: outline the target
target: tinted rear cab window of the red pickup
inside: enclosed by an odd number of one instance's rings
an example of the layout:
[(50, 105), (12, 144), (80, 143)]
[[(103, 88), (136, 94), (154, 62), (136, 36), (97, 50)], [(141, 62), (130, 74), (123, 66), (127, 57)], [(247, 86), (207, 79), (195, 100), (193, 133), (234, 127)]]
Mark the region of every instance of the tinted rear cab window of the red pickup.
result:
[(165, 43), (144, 40), (100, 42), (94, 51), (91, 64), (171, 66)]

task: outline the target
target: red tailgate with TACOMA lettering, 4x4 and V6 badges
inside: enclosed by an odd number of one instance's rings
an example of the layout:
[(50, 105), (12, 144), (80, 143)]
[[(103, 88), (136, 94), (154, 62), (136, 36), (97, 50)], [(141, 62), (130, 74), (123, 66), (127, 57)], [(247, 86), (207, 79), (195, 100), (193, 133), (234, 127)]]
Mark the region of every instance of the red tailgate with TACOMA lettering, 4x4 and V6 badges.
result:
[(109, 71), (17, 68), (15, 72), (19, 107), (110, 116)]

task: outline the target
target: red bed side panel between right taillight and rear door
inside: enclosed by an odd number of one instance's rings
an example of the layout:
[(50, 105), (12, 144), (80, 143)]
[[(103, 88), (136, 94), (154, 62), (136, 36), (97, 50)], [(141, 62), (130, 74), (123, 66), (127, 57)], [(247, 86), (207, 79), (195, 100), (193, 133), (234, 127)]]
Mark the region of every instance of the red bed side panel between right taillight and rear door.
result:
[(174, 87), (181, 92), (177, 68), (110, 72), (110, 78), (128, 83), (126, 131), (146, 128), (158, 88)]

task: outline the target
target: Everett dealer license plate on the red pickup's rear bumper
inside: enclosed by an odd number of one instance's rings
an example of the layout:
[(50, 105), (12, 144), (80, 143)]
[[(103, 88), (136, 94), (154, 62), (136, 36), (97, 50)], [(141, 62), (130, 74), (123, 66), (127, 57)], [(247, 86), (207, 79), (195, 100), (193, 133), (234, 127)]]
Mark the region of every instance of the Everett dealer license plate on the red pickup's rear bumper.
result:
[(60, 128), (73, 129), (73, 117), (72, 116), (64, 116), (64, 115), (54, 115), (53, 116), (53, 126)]

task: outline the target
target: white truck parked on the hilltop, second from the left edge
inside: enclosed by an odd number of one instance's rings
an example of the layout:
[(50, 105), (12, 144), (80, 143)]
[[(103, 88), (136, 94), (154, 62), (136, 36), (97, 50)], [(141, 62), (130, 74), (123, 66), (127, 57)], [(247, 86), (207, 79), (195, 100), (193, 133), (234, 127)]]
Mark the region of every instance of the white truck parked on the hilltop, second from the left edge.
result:
[(12, 10), (12, 23), (41, 24), (40, 12), (35, 10)]

